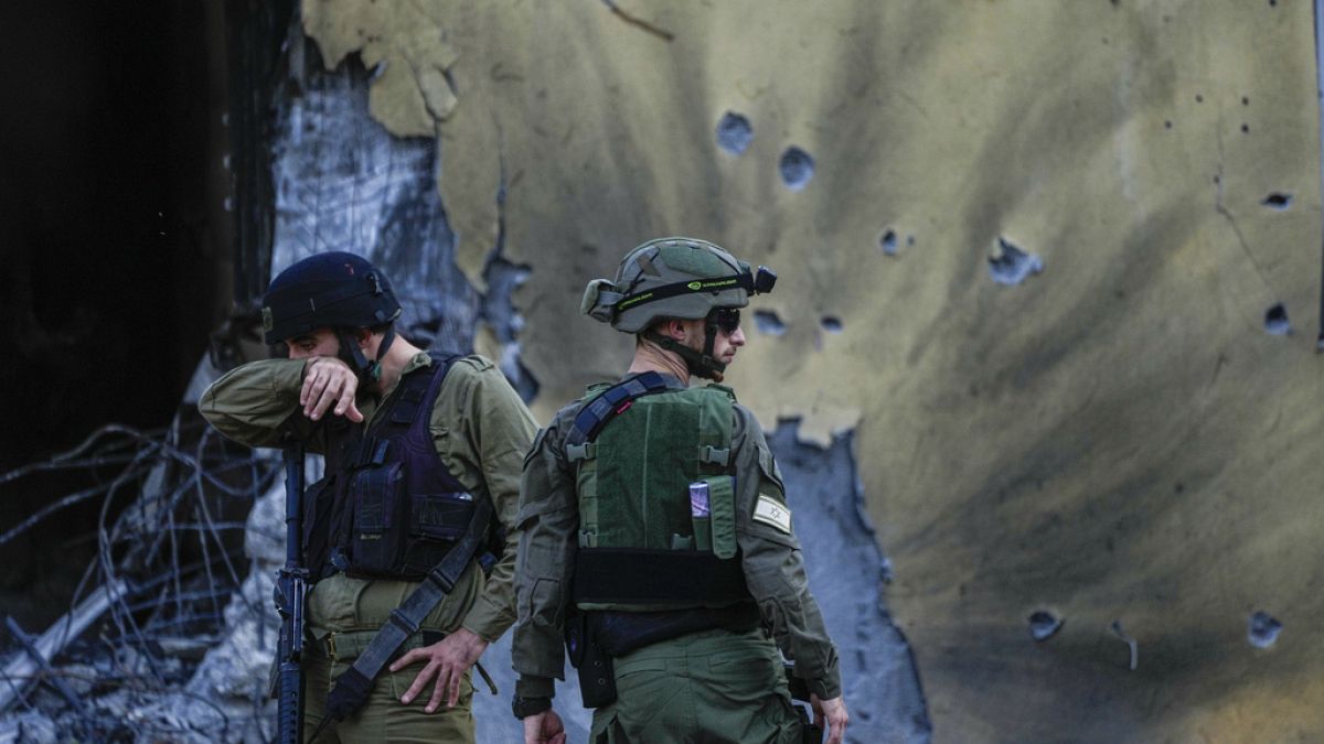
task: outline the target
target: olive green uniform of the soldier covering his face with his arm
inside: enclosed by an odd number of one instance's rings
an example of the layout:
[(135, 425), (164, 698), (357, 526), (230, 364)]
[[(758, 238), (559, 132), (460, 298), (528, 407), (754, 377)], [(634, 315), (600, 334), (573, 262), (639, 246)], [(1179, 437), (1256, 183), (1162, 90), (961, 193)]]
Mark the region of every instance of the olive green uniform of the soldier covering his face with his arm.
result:
[[(402, 375), (430, 365), (426, 353), (416, 355)], [(281, 430), (299, 409), (305, 360), (271, 359), (238, 367), (213, 383), (199, 402), (199, 410), (226, 437), (262, 447), (279, 446)], [(389, 397), (387, 398), (389, 400)], [(357, 405), (365, 422), (384, 406), (372, 396), (360, 396)], [(330, 413), (327, 414), (331, 416)], [(294, 422), (307, 425), (303, 417)], [(454, 590), (422, 622), (432, 633), (466, 628), (493, 642), (515, 621), (514, 568), (518, 508), (519, 462), (528, 450), (538, 424), (491, 361), (481, 356), (457, 359), (442, 381), (432, 409), (429, 429), (437, 454), (446, 469), (474, 495), (489, 496), (496, 516), (506, 526), (506, 553), (483, 576), (470, 564)], [(312, 451), (322, 451), (323, 429), (310, 426), (302, 434)], [(322, 718), (326, 695), (392, 609), (400, 606), (417, 582), (391, 579), (350, 579), (343, 573), (318, 581), (307, 598), (307, 631), (314, 639), (305, 666), (305, 731)], [(420, 646), (416, 634), (406, 646)], [(400, 696), (413, 683), (421, 667), (400, 673), (383, 670), (368, 703), (338, 725), (330, 725), (319, 741), (474, 741), (470, 712), (473, 686), (469, 675), (461, 686), (459, 704), (442, 706), (436, 714), (422, 707), (432, 694), (428, 687), (410, 706)]]

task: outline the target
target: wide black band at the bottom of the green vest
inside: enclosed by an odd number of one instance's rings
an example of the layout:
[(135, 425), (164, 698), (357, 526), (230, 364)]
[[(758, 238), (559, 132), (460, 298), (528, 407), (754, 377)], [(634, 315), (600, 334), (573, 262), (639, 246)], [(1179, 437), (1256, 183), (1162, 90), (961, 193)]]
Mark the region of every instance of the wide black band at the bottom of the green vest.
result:
[(580, 548), (575, 604), (722, 605), (749, 600), (740, 560), (699, 551)]

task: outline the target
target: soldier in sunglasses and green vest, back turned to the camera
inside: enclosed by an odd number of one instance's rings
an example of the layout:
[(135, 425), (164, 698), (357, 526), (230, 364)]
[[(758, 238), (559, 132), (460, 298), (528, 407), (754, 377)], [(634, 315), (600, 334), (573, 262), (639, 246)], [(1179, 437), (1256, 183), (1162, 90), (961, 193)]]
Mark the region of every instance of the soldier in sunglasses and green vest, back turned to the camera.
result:
[(512, 659), (526, 743), (564, 740), (551, 710), (563, 634), (596, 743), (817, 741), (777, 646), (814, 723), (842, 740), (837, 651), (763, 430), (730, 388), (688, 387), (722, 380), (745, 340), (739, 308), (775, 281), (710, 242), (662, 238), (589, 283), (583, 311), (636, 334), (634, 360), (563, 408), (524, 461)]

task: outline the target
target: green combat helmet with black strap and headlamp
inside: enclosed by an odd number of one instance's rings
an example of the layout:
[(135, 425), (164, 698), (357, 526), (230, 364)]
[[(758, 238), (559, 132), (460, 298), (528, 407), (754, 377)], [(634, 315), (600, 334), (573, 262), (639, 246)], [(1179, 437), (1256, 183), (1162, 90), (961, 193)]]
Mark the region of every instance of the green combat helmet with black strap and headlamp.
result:
[[(616, 278), (589, 282), (580, 310), (677, 352), (692, 375), (720, 380), (726, 364), (712, 357), (718, 311), (744, 307), (749, 295), (771, 293), (776, 282), (777, 274), (767, 266), (755, 273), (749, 263), (708, 241), (657, 238), (626, 253)], [(706, 319), (703, 352), (651, 330), (666, 318)]]

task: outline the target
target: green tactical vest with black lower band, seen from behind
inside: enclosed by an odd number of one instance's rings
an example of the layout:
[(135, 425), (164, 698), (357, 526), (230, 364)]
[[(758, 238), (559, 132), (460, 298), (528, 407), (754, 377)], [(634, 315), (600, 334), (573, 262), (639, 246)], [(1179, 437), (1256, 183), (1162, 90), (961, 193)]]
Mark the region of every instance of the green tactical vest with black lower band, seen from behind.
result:
[(731, 475), (735, 395), (653, 372), (589, 392), (565, 447), (577, 463), (575, 605), (651, 612), (748, 600)]

